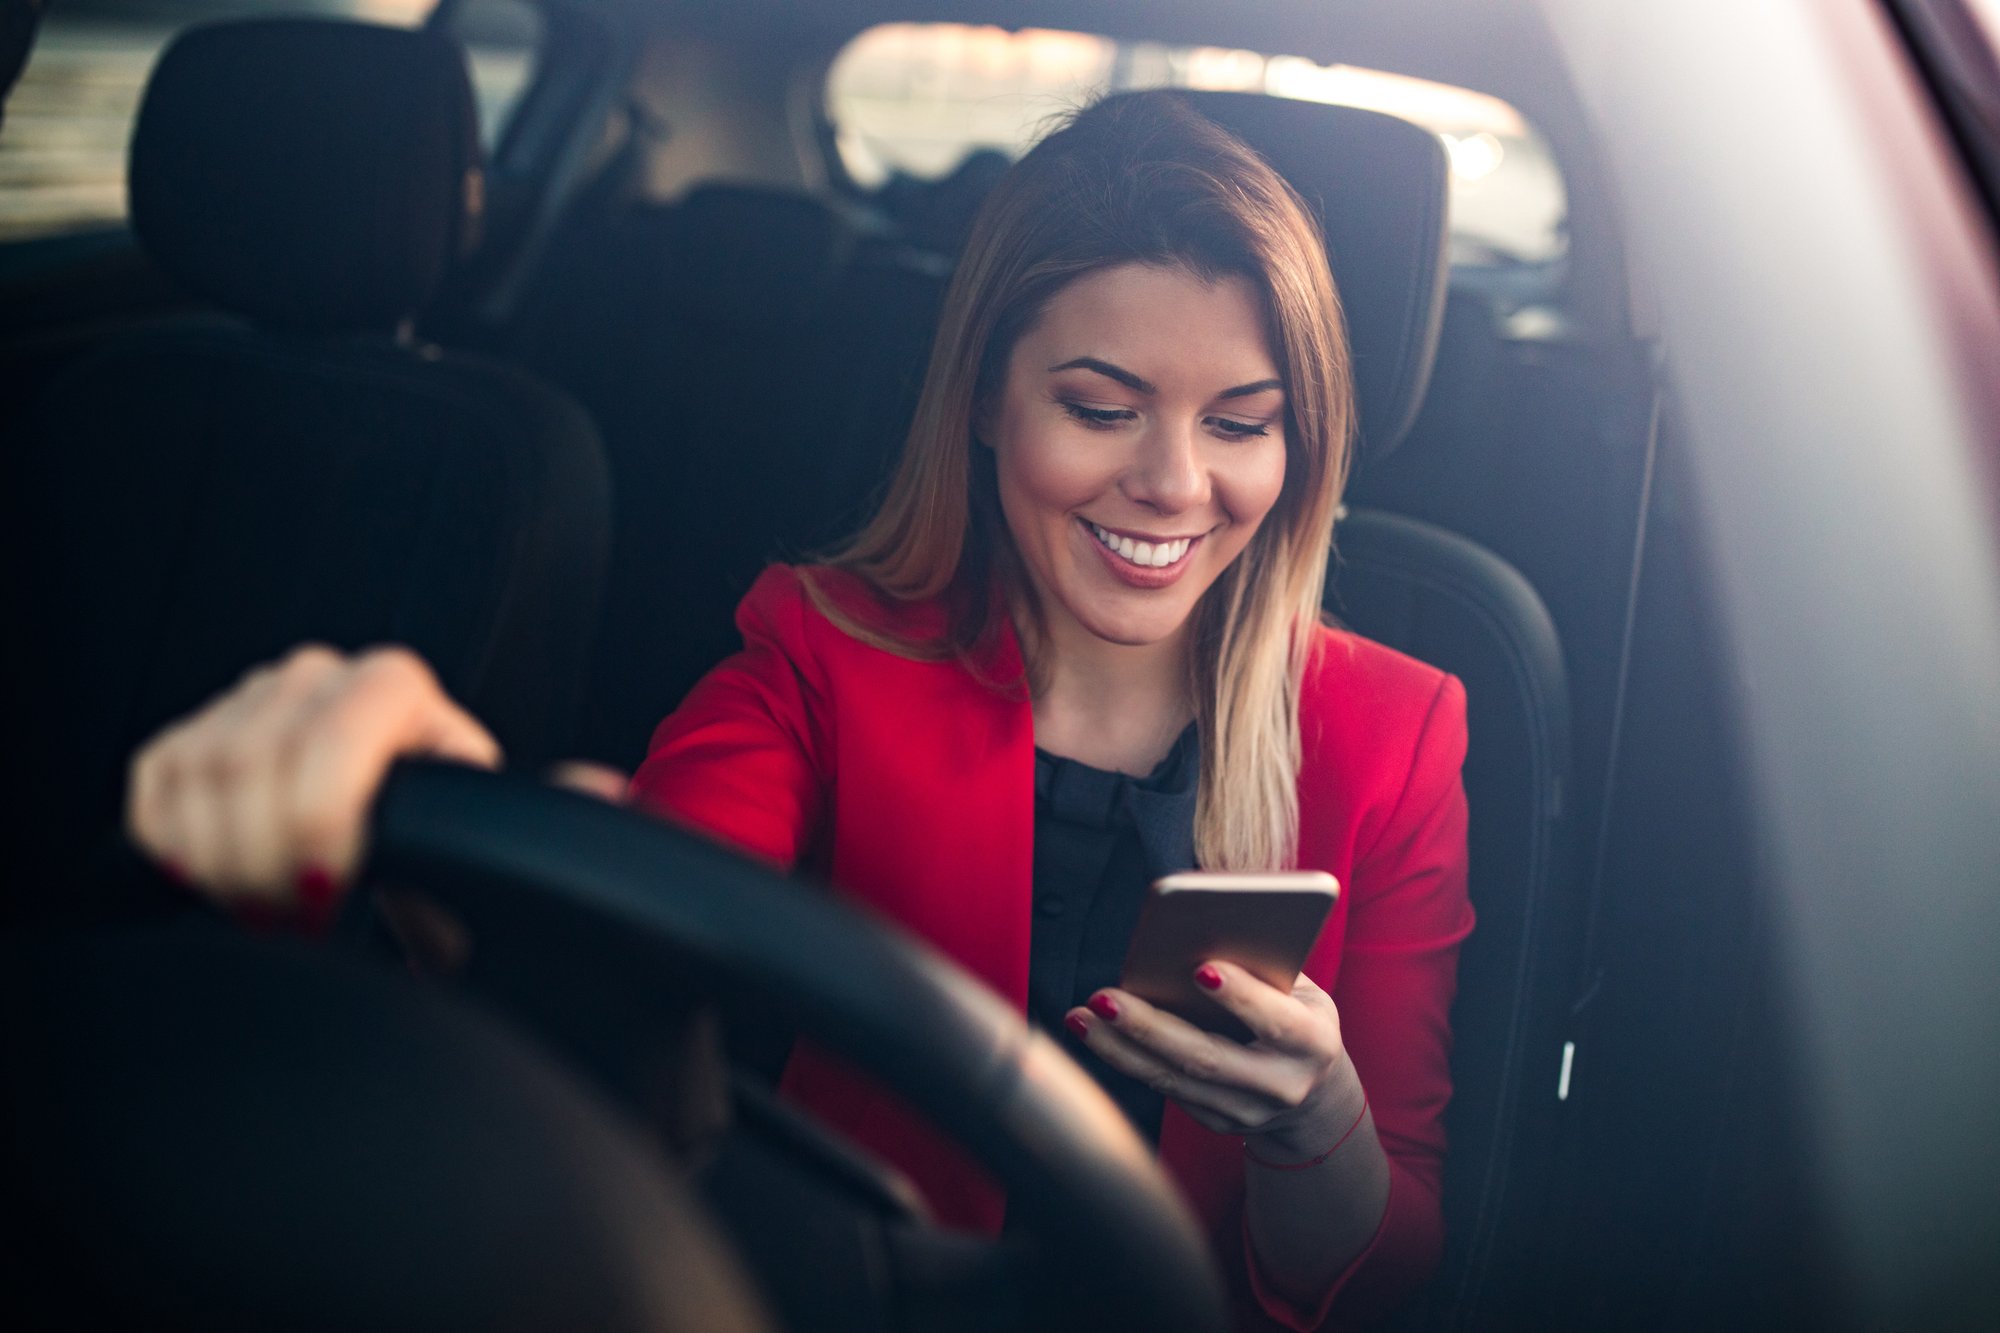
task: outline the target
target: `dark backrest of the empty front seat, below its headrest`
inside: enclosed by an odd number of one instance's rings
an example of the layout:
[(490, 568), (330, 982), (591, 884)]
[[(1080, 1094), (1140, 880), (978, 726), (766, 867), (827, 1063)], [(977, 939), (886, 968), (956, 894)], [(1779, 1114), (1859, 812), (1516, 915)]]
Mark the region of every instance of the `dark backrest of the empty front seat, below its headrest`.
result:
[(176, 320), (74, 366), (28, 438), (72, 761), (104, 771), (304, 638), (408, 642), (510, 753), (560, 743), (604, 476), (584, 414), (526, 374)]

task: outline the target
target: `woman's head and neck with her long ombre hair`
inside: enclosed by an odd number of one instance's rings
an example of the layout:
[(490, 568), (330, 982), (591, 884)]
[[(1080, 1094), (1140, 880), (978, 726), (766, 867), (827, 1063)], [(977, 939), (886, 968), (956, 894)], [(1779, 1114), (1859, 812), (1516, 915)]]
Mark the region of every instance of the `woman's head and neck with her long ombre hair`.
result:
[[(1232, 392), (1270, 380), (1260, 396)], [(1172, 96), (1110, 98), (988, 198), (946, 296), (902, 468), (836, 564), (896, 598), (942, 596), (958, 654), (988, 632), (998, 578), (1026, 636), (1038, 735), (1144, 773), (1192, 715), (1204, 735), (1202, 865), (1286, 865), (1298, 839), (1296, 693), (1314, 648), (1298, 626), (1320, 612), (1352, 414), (1324, 244), (1290, 186)], [(982, 424), (992, 450), (968, 452)], [(1052, 526), (1048, 514), (1060, 514)], [(1150, 562), (1142, 572), (1102, 560), (1090, 522), (1130, 536), (1134, 556), (1140, 540), (1204, 538), (1186, 556), (1196, 576), (1182, 586)], [(1076, 568), (1130, 592), (1100, 604)], [(1204, 596), (1210, 586), (1216, 596)], [(1118, 632), (1088, 632), (1064, 650), (1068, 628), (1108, 630), (1106, 616), (1134, 616), (1124, 632), (1160, 642), (1118, 652), (1106, 648)]]

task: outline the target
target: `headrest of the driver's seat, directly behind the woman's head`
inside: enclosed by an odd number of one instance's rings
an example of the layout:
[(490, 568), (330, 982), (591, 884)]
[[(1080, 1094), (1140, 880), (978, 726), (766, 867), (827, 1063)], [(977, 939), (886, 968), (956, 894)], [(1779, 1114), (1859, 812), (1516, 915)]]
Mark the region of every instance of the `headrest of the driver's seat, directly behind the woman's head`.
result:
[(1448, 162), (1436, 134), (1354, 106), (1190, 92), (1320, 214), (1354, 346), (1364, 456), (1402, 442), (1430, 384), (1444, 318)]

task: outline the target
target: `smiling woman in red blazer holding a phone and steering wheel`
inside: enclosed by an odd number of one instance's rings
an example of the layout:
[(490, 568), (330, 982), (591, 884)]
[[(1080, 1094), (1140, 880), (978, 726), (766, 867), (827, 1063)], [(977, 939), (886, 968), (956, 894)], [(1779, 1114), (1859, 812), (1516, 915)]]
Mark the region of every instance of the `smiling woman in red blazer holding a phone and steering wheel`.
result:
[[(880, 514), (828, 564), (766, 570), (744, 650), (630, 787), (1060, 1023), (1158, 1137), (1246, 1313), (1286, 1327), (1378, 1309), (1436, 1259), (1472, 923), (1456, 681), (1318, 618), (1350, 428), (1298, 198), (1168, 94), (1086, 110), (980, 214)], [(406, 652), (306, 648), (140, 755), (132, 831), (218, 899), (322, 911), (412, 753), (498, 763)], [(1146, 881), (1188, 865), (1346, 887), (1290, 993), (1196, 973), (1254, 1043), (1114, 985)], [(998, 1225), (858, 1079), (802, 1051), (786, 1087), (944, 1221)]]

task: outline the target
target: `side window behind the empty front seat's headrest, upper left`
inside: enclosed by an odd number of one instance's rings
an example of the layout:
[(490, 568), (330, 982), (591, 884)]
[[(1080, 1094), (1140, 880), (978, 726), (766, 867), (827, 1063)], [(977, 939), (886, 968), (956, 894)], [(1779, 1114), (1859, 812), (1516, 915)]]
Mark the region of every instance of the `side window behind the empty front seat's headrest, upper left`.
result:
[[(94, 0), (54, 4), (0, 126), (0, 242), (118, 226), (126, 146), (154, 60), (196, 22), (316, 14), (414, 28), (434, 0)], [(462, 0), (488, 142), (526, 88), (540, 20), (530, 0)]]

